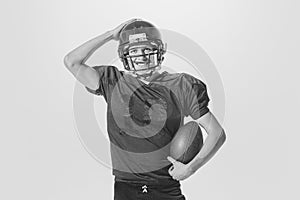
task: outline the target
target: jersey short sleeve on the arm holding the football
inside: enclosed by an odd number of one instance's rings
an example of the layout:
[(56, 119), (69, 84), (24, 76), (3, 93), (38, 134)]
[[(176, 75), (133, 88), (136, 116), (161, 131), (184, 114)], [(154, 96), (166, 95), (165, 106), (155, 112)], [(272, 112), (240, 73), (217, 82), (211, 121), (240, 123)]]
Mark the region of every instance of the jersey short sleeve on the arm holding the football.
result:
[(183, 99), (184, 115), (191, 116), (194, 120), (209, 111), (206, 85), (199, 79), (183, 73)]

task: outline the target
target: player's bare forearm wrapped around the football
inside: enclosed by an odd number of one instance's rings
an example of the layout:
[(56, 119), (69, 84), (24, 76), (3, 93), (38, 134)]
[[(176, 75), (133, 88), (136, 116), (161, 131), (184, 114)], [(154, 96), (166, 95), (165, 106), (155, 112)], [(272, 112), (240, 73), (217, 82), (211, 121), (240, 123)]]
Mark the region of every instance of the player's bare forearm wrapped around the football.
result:
[(225, 132), (222, 129), (221, 133), (210, 133), (208, 134), (203, 147), (200, 152), (194, 157), (194, 159), (189, 163), (192, 171), (197, 171), (205, 163), (207, 163), (224, 144), (226, 139)]

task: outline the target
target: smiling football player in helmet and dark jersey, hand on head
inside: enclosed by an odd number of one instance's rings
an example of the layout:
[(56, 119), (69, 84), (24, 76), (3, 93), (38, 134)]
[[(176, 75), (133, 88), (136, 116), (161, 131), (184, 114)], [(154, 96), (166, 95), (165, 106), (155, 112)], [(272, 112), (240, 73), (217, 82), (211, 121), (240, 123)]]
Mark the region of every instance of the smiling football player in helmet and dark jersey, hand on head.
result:
[[(85, 64), (110, 40), (119, 41), (125, 71)], [(159, 30), (133, 19), (65, 56), (75, 78), (107, 102), (115, 200), (185, 199), (179, 181), (195, 173), (225, 141), (223, 128), (207, 107), (205, 84), (186, 73), (160, 72), (165, 52)], [(194, 159), (183, 164), (168, 156), (168, 145), (187, 116), (208, 136)]]

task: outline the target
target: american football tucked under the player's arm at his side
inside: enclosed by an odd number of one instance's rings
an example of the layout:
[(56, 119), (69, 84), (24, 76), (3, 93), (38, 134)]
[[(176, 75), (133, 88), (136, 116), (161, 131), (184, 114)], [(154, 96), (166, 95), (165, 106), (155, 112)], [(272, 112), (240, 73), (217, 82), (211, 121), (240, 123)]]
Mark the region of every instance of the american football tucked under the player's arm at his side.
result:
[(190, 121), (176, 132), (171, 141), (170, 156), (187, 164), (197, 155), (202, 146), (202, 131), (197, 122)]

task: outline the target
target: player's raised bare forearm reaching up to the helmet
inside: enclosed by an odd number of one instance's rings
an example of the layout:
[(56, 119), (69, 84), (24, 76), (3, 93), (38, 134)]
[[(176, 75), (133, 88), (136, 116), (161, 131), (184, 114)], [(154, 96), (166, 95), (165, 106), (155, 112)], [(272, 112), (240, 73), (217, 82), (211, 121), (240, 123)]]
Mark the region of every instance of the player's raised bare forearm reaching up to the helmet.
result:
[(65, 57), (69, 64), (82, 64), (102, 45), (113, 38), (112, 31), (107, 31), (72, 50)]

